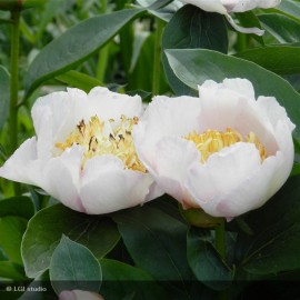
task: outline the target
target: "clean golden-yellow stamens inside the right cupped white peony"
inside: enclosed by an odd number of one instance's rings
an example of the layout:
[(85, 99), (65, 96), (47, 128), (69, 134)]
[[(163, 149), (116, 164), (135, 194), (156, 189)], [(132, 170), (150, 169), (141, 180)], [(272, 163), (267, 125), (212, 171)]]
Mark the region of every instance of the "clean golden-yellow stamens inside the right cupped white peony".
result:
[(226, 147), (230, 147), (237, 142), (250, 142), (256, 146), (259, 151), (261, 161), (267, 158), (267, 150), (263, 144), (260, 142), (259, 138), (254, 132), (250, 132), (244, 138), (238, 131), (233, 131), (231, 128), (228, 128), (226, 132), (218, 130), (207, 130), (201, 134), (198, 134), (196, 131), (189, 133), (184, 139), (194, 142), (197, 149), (201, 153), (201, 162), (204, 163), (209, 156), (212, 153), (219, 152)]

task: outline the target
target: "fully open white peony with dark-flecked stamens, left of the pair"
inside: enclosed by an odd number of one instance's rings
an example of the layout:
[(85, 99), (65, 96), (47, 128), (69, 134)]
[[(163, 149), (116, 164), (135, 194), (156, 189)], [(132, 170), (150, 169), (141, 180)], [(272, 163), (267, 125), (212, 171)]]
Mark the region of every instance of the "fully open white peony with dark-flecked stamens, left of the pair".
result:
[(99, 87), (41, 97), (32, 107), (37, 138), (17, 149), (0, 177), (41, 187), (90, 214), (151, 200), (158, 191), (131, 137), (141, 112), (139, 96)]

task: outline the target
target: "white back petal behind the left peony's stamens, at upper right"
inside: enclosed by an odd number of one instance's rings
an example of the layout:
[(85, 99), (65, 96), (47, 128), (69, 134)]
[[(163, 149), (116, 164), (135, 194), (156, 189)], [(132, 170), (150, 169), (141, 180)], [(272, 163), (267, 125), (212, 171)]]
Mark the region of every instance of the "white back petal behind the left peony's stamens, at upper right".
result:
[(96, 87), (88, 97), (92, 113), (101, 120), (118, 120), (122, 114), (133, 118), (142, 113), (142, 101), (138, 94), (131, 97), (111, 92), (107, 88)]

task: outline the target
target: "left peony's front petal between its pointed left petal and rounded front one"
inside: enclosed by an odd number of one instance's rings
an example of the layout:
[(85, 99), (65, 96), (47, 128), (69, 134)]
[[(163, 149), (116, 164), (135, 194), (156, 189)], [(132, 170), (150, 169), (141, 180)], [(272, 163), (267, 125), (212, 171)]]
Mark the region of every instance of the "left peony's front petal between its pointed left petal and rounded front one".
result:
[(42, 188), (64, 206), (86, 212), (79, 196), (82, 152), (81, 147), (73, 146), (50, 159), (43, 169), (46, 186)]

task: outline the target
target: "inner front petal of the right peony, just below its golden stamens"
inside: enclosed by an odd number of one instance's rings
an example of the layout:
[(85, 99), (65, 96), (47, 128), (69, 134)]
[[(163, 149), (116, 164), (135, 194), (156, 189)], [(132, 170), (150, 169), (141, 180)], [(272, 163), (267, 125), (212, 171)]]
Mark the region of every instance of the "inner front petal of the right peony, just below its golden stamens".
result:
[(261, 166), (260, 160), (254, 144), (236, 143), (211, 154), (206, 163), (194, 163), (188, 176), (187, 189), (199, 207), (213, 206), (214, 198), (231, 192), (256, 172)]

